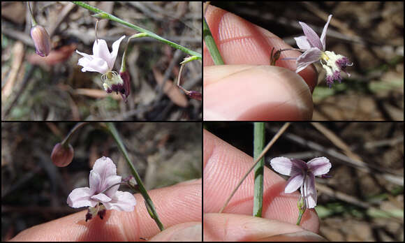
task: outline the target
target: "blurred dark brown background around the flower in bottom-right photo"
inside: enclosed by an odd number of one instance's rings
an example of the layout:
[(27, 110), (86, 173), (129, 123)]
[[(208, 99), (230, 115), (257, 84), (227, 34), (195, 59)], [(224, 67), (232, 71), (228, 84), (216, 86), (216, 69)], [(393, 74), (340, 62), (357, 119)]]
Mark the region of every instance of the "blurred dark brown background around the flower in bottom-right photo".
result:
[[(281, 126), (265, 124), (265, 145)], [(253, 156), (253, 123), (204, 128)], [(325, 156), (332, 163), (331, 178), (316, 178), (319, 234), (327, 240), (404, 241), (404, 123), (295, 122), (265, 155), (267, 168), (278, 156), (306, 162)]]

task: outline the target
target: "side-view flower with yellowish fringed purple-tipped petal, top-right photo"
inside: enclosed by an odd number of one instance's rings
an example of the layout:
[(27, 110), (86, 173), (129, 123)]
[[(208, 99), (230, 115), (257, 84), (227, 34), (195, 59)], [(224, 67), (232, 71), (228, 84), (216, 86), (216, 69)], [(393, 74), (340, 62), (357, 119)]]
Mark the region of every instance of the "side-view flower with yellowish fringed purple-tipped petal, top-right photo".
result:
[(297, 58), (297, 70), (295, 72), (299, 73), (310, 64), (313, 64), (316, 61), (321, 61), (323, 68), (326, 70), (326, 83), (329, 87), (332, 87), (334, 81), (341, 82), (341, 71), (344, 71), (350, 77), (350, 73), (346, 72), (346, 66), (353, 65), (347, 57), (344, 57), (341, 54), (335, 54), (334, 52), (325, 51), (326, 31), (331, 18), (332, 15), (327, 17), (327, 22), (325, 27), (323, 27), (321, 38), (319, 38), (316, 32), (304, 22), (299, 22), (302, 31), (304, 31), (304, 36), (294, 38), (297, 46), (300, 47), (301, 50), (304, 50), (304, 53)]

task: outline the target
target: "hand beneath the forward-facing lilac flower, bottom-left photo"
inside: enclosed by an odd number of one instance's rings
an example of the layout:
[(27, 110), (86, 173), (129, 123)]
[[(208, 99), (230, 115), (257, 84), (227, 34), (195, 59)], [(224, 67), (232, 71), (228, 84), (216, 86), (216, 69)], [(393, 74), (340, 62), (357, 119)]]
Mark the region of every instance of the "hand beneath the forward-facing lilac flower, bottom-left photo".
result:
[[(140, 194), (133, 212), (107, 210), (85, 222), (87, 209), (22, 231), (11, 241), (201, 241), (201, 179), (148, 191), (165, 226), (159, 228), (147, 213)], [(142, 238), (141, 238), (142, 237)]]

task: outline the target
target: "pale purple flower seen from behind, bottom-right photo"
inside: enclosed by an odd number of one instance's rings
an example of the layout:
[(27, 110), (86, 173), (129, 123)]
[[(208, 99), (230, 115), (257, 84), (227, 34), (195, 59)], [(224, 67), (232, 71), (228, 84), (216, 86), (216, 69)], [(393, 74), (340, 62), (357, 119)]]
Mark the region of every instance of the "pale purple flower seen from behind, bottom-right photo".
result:
[(315, 176), (322, 176), (329, 172), (332, 164), (325, 157), (311, 159), (308, 163), (300, 159), (277, 157), (270, 161), (272, 168), (282, 175), (289, 175), (285, 193), (293, 193), (300, 188), (307, 208), (316, 206)]

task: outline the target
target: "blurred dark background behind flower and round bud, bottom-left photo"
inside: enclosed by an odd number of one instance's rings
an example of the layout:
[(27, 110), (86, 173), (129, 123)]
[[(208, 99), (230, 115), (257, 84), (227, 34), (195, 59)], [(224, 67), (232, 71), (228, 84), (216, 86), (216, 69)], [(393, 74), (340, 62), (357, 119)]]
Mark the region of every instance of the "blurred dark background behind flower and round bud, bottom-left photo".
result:
[[(56, 167), (50, 159), (52, 149), (75, 124), (1, 123), (1, 240), (82, 211), (69, 207), (66, 199), (73, 189), (89, 186), (89, 172), (101, 156), (114, 161), (117, 175), (131, 175), (115, 140), (98, 123), (73, 133), (73, 161)], [(201, 177), (201, 123), (119, 122), (115, 126), (147, 190)], [(135, 193), (122, 185), (120, 191)]]

